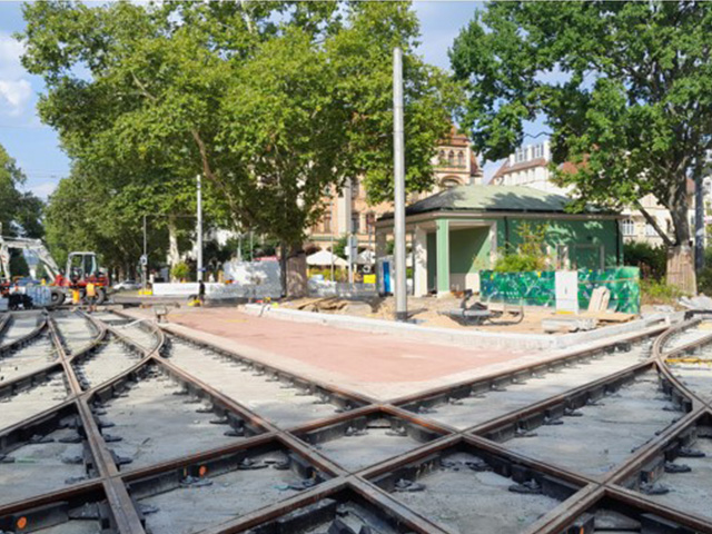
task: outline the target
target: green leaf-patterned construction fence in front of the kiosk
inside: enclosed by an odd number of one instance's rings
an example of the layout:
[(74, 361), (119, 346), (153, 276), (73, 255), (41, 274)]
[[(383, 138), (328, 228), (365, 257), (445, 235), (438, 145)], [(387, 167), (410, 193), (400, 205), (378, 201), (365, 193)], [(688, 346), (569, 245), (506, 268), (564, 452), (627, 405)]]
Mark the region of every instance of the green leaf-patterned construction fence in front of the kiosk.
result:
[[(614, 267), (603, 270), (581, 269), (578, 308), (587, 309), (596, 287), (611, 291), (609, 309), (640, 314), (641, 285), (637, 267)], [(523, 304), (525, 306), (556, 306), (556, 271), (496, 273), (479, 271), (479, 293), (484, 300)]]

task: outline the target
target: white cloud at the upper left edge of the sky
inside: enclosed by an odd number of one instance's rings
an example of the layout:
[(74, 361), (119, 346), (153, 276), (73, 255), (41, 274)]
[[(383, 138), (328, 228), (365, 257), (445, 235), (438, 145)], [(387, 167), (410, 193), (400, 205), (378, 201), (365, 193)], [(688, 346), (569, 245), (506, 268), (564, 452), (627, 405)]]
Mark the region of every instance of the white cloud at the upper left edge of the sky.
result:
[(32, 86), (20, 63), (24, 46), (0, 32), (0, 115), (22, 115), (32, 97)]

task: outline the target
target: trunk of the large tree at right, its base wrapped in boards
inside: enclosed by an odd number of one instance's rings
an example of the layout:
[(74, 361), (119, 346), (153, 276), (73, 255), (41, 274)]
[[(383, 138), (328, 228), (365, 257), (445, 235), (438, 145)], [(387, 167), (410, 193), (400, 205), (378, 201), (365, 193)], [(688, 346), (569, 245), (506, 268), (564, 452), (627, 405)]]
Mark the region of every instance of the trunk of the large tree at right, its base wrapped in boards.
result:
[(676, 200), (673, 209), (670, 210), (675, 228), (675, 246), (668, 250), (668, 284), (678, 287), (686, 295), (695, 295), (698, 286), (694, 275), (694, 255), (690, 239), (686, 191), (676, 196)]

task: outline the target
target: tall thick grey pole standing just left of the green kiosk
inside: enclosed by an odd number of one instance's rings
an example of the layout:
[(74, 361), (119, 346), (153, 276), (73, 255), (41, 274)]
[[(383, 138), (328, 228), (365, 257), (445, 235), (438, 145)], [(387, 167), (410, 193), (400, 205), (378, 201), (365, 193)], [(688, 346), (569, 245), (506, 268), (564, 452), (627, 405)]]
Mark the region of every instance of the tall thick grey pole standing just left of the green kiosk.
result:
[(408, 318), (405, 279), (405, 141), (403, 134), (403, 50), (393, 50), (393, 148), (395, 180), (395, 267), (396, 320)]

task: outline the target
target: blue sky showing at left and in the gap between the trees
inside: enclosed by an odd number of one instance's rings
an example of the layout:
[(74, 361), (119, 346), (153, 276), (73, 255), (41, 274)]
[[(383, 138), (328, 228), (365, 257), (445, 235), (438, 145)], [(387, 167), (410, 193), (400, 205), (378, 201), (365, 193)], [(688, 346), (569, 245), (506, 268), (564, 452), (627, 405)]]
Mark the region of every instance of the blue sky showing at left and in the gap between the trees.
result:
[[(447, 68), (447, 49), (481, 6), (474, 1), (416, 1), (422, 24), (425, 59)], [(69, 172), (69, 160), (59, 148), (57, 135), (36, 115), (42, 80), (20, 65), (22, 44), (12, 33), (24, 28), (22, 2), (0, 1), (0, 145), (18, 160), (28, 176), (27, 189), (47, 197)], [(486, 170), (491, 171), (492, 165)]]

